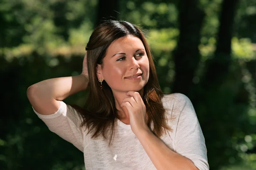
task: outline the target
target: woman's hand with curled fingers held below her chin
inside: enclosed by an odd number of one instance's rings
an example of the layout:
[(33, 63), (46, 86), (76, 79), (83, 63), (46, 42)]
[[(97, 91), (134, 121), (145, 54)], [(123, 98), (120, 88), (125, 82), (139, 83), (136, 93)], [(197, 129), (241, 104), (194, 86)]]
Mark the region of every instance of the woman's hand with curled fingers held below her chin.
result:
[(137, 136), (144, 130), (149, 130), (146, 123), (146, 107), (140, 96), (136, 91), (128, 91), (121, 107), (125, 107), (124, 111), (128, 111), (130, 117), (131, 130)]

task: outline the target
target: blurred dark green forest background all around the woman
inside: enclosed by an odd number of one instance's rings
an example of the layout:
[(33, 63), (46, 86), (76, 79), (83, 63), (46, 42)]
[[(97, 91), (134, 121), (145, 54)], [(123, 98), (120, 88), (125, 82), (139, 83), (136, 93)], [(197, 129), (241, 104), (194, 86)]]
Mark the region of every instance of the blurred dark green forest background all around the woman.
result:
[[(164, 93), (195, 107), (211, 170), (256, 169), (255, 0), (1, 0), (1, 170), (84, 169), (83, 153), (48, 130), (26, 89), (80, 74), (102, 18), (143, 28)], [(83, 105), (86, 94), (64, 102)]]

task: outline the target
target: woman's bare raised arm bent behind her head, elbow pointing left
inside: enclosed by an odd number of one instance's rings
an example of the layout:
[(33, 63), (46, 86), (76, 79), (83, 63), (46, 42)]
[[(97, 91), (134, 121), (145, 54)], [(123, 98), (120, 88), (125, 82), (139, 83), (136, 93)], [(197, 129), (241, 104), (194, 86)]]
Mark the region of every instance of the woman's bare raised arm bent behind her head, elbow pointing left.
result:
[(55, 113), (60, 103), (68, 96), (83, 91), (88, 85), (87, 55), (84, 56), (82, 74), (72, 77), (47, 79), (31, 85), (27, 97), (32, 107), (42, 115)]

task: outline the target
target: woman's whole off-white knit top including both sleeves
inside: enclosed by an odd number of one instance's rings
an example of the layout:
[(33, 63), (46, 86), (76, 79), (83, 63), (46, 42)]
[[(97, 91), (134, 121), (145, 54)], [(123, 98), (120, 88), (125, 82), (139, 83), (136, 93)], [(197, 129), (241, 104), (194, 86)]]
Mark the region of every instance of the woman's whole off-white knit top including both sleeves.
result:
[[(172, 131), (160, 139), (169, 149), (192, 160), (199, 170), (209, 170), (204, 136), (189, 98), (183, 94), (169, 94), (164, 95), (162, 102)], [(117, 131), (108, 146), (108, 140), (102, 137), (91, 139), (91, 134), (86, 135), (87, 130), (80, 127), (81, 116), (62, 101), (54, 114), (35, 113), (49, 130), (84, 153), (86, 170), (156, 170), (131, 126), (119, 119)]]

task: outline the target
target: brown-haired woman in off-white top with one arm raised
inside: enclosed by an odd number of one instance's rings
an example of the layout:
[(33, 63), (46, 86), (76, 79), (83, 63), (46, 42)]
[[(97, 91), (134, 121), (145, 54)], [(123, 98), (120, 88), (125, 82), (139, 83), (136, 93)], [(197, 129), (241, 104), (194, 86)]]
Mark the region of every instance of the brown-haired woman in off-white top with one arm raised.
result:
[[(195, 110), (163, 95), (140, 29), (109, 20), (92, 33), (79, 76), (47, 79), (27, 96), (49, 130), (84, 153), (86, 170), (208, 170)], [(89, 89), (84, 108), (66, 97)]]

